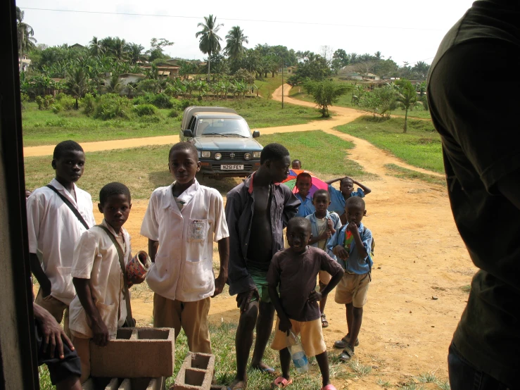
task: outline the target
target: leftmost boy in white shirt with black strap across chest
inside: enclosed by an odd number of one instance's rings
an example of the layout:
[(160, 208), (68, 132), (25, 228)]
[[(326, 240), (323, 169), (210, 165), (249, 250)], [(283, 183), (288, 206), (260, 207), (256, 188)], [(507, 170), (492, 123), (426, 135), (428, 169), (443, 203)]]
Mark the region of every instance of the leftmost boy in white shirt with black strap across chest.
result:
[(75, 184), (85, 165), (80, 144), (60, 142), (51, 164), (56, 178), (27, 198), (27, 233), (31, 271), (40, 285), (35, 302), (58, 323), (65, 314), (64, 329), (68, 334), (68, 306), (76, 294), (70, 276), (74, 247), (96, 221), (90, 194)]

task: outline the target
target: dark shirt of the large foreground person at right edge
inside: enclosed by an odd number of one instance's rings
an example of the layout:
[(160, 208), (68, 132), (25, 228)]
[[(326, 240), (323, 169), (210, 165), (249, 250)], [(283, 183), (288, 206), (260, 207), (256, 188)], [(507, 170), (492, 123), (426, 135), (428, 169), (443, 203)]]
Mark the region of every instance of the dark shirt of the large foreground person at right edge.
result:
[(511, 388), (520, 372), (520, 210), (496, 184), (520, 168), (519, 20), (518, 1), (476, 1), (440, 44), (428, 86), (455, 223), (481, 269), (453, 343)]

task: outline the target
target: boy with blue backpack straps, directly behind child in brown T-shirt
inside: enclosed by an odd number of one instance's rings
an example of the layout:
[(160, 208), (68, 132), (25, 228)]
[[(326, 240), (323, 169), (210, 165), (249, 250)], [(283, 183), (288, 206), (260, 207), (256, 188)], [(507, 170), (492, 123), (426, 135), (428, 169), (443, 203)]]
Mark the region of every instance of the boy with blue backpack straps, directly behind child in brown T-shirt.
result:
[[(307, 220), (310, 220), (312, 228), (312, 238), (309, 241), (310, 246), (326, 251), (329, 256), (336, 259), (336, 256), (331, 251), (327, 251), (326, 244), (329, 244), (331, 237), (336, 233), (336, 230), (341, 228), (341, 220), (337, 213), (332, 213), (327, 210), (331, 204), (331, 197), (329, 192), (325, 189), (319, 189), (312, 197), (312, 205), (315, 207), (315, 213), (307, 215)], [(319, 271), (319, 292), (322, 292), (327, 284), (331, 281), (331, 275), (325, 271)], [(329, 322), (325, 316), (326, 295), (319, 301), (319, 311), (322, 313), (322, 327), (329, 326)]]

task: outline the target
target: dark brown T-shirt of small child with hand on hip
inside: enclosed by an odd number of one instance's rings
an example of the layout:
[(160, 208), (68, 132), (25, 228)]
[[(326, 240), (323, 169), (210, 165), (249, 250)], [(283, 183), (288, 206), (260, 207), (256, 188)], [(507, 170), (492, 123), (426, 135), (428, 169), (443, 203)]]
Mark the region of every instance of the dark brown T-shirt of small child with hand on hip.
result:
[(303, 253), (284, 249), (273, 256), (267, 283), (278, 287), (281, 307), (287, 317), (296, 321), (312, 321), (322, 315), (318, 303), (309, 301), (310, 293), (316, 288), (319, 271), (334, 276), (343, 269), (324, 251), (310, 245)]

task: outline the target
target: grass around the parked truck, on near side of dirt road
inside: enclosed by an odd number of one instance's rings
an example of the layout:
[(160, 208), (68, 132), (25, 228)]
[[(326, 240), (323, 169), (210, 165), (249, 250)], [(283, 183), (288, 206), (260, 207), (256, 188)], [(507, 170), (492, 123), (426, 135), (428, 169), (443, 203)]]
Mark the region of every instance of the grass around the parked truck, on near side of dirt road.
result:
[[(345, 149), (353, 148), (353, 144), (334, 135), (321, 131), (295, 132), (264, 135), (258, 140), (262, 145), (271, 142), (284, 144), (293, 158), (299, 158), (306, 169), (317, 175), (364, 175), (360, 165), (350, 161), (345, 153)], [(132, 199), (148, 199), (153, 189), (172, 182), (167, 170), (169, 150), (170, 146), (165, 145), (87, 153), (84, 175), (78, 185), (96, 200), (104, 184), (118, 181), (127, 184)], [(33, 190), (50, 182), (54, 175), (51, 160), (51, 156), (25, 158), (27, 189)], [(237, 180), (205, 178), (204, 184), (225, 195), (236, 186)]]

